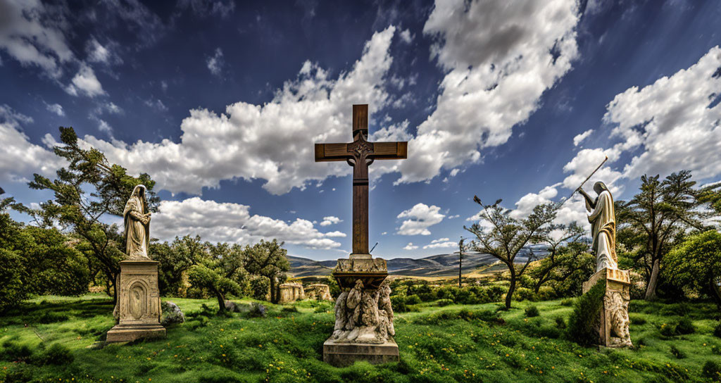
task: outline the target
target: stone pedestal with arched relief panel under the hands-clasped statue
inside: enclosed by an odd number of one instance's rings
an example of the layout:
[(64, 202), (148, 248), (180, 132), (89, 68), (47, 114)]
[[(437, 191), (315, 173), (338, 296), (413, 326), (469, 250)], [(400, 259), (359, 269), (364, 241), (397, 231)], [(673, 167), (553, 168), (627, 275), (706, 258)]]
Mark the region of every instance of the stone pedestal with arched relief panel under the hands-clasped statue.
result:
[(112, 314), (118, 325), (107, 332), (107, 342), (163, 338), (160, 325), (160, 291), (155, 260), (123, 260), (118, 276), (118, 302)]

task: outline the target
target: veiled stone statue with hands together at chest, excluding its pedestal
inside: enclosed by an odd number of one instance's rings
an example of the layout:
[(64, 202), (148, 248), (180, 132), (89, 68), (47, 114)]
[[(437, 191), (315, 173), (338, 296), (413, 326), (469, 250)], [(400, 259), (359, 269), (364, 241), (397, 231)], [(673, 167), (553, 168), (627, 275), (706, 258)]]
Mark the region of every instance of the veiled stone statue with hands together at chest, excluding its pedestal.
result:
[(145, 186), (137, 185), (123, 210), (125, 252), (128, 259), (147, 260), (150, 245), (150, 213), (145, 200)]

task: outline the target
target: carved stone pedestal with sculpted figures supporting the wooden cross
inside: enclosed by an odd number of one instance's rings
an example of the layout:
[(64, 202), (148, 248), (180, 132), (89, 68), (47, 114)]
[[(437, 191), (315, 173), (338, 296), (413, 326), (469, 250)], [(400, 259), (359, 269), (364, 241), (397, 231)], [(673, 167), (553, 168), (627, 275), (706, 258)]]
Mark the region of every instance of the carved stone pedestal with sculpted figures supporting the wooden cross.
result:
[(338, 260), (333, 277), (341, 293), (335, 302), (333, 334), (323, 343), (323, 361), (333, 366), (399, 361), (387, 276), (382, 258), (352, 254)]

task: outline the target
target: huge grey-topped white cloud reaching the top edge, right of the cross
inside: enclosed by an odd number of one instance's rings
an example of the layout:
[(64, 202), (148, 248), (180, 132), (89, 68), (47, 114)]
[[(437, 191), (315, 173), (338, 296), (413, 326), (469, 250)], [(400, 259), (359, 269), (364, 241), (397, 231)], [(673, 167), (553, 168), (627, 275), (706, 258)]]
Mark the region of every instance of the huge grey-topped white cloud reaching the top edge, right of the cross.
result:
[(579, 17), (575, 0), (436, 1), (423, 32), (446, 75), (397, 182), (430, 180), (508, 141), (578, 57)]

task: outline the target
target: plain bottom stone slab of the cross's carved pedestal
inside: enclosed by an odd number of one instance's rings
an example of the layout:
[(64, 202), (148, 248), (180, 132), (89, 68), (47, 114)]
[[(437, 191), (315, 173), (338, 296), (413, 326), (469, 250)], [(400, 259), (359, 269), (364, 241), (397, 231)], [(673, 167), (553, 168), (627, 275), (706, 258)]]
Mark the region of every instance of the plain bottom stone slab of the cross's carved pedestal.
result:
[(337, 343), (329, 339), (323, 343), (323, 361), (336, 367), (350, 366), (355, 361), (383, 364), (399, 360), (398, 345), (394, 340), (368, 344)]

